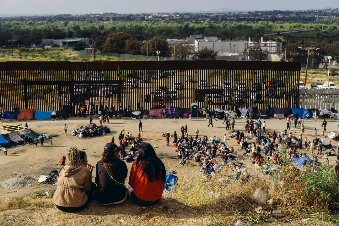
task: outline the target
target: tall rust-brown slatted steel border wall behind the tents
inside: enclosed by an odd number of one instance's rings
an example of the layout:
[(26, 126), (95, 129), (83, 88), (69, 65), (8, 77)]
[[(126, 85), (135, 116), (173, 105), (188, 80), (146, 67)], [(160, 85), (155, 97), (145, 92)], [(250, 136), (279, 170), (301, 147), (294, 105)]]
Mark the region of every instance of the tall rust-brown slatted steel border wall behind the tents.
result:
[[(0, 109), (77, 109), (90, 100), (131, 110), (299, 107), (300, 63), (254, 61), (0, 62)], [(182, 89), (179, 88), (182, 84)], [(260, 97), (260, 98), (259, 98)]]

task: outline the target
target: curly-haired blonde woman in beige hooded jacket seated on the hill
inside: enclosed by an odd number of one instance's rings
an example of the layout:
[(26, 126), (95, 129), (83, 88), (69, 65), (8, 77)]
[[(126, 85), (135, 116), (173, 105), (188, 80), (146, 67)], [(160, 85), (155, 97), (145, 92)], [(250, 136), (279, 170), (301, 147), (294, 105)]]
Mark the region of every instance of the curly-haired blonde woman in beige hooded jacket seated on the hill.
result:
[(64, 212), (76, 212), (93, 200), (95, 183), (92, 183), (93, 166), (87, 164), (87, 155), (77, 148), (67, 149), (66, 165), (58, 174), (53, 201)]

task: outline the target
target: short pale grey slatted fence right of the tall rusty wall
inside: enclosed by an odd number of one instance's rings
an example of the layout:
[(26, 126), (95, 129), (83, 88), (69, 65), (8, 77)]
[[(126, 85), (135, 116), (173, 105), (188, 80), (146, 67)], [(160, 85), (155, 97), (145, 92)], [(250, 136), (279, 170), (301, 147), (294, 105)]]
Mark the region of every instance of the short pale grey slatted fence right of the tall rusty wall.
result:
[(300, 89), (300, 108), (339, 108), (339, 89)]

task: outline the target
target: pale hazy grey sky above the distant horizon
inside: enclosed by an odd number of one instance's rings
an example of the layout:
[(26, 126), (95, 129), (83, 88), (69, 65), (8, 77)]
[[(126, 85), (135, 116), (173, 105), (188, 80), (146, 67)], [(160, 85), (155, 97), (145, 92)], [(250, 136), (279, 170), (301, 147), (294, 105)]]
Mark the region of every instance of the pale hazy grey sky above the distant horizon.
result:
[(169, 11), (305, 10), (339, 7), (338, 0), (0, 0), (0, 14), (149, 13)]

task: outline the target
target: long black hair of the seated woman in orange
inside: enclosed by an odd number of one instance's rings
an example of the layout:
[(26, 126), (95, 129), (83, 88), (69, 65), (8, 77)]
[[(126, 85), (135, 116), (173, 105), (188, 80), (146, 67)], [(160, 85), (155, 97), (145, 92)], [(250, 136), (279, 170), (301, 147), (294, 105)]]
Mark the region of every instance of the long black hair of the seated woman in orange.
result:
[(144, 143), (139, 145), (139, 155), (136, 162), (136, 168), (142, 169), (142, 175), (146, 173), (150, 182), (165, 181), (166, 169), (160, 158), (154, 151), (152, 145)]

